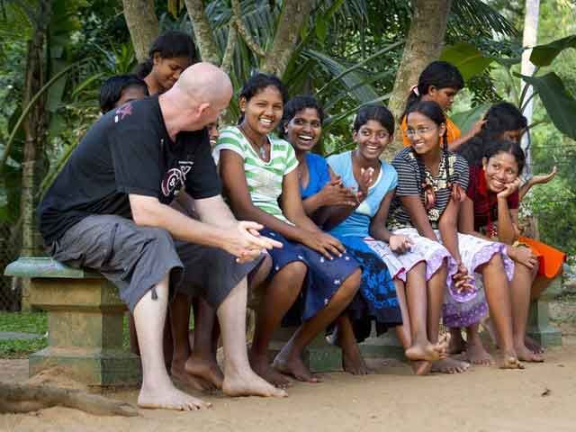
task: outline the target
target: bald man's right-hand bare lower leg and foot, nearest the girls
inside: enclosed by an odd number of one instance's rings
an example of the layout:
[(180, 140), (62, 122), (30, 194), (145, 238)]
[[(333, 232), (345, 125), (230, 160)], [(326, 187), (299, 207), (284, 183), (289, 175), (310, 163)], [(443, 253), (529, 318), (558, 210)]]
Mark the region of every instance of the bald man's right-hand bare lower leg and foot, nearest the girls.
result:
[(266, 382), (250, 368), (246, 349), (246, 278), (232, 289), (216, 311), (224, 347), (222, 391), (228, 396), (276, 396), (286, 392)]

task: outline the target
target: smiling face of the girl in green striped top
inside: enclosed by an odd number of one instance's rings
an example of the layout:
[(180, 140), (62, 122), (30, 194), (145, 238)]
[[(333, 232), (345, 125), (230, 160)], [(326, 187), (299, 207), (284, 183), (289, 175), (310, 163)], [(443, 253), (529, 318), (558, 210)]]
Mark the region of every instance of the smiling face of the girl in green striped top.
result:
[(239, 105), (244, 112), (242, 127), (263, 136), (275, 130), (284, 112), (284, 99), (274, 85), (268, 85), (249, 101), (240, 97)]

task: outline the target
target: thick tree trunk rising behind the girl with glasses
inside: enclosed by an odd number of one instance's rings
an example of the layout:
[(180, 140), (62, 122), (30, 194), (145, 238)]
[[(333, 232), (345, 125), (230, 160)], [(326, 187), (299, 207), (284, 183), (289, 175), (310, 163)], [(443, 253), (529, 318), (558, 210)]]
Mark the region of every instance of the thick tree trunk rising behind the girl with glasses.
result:
[[(388, 103), (397, 121), (404, 111), (410, 87), (418, 84), (424, 67), (440, 56), (451, 5), (452, 0), (416, 0), (414, 4), (408, 39)], [(401, 148), (402, 137), (398, 126), (395, 142), (387, 148), (385, 157), (391, 157)]]

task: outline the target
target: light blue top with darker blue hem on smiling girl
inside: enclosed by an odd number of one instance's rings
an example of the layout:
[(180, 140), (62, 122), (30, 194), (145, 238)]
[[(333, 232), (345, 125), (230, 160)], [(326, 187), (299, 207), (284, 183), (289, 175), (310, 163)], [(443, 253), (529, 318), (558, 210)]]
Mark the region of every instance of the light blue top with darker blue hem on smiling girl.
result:
[[(396, 174), (394, 167), (383, 161), (380, 163), (380, 174), (374, 184), (368, 189), (368, 196), (346, 220), (343, 220), (337, 227), (331, 229), (330, 234), (362, 238), (370, 235), (370, 220), (374, 217), (378, 209), (380, 209), (380, 203), (384, 199), (384, 196), (386, 196), (386, 193), (394, 190), (398, 185), (398, 174)], [(352, 151), (330, 156), (328, 158), (328, 164), (332, 168), (332, 171), (342, 178), (342, 182), (346, 187), (357, 190), (358, 183), (356, 182), (356, 178), (354, 178), (354, 172), (352, 170)]]

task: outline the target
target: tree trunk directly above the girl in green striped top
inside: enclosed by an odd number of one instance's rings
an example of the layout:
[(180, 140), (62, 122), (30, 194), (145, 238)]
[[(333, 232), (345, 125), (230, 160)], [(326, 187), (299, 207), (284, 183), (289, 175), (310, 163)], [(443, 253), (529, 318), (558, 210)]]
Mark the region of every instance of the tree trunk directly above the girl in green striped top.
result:
[(292, 58), (300, 30), (305, 20), (308, 20), (311, 10), (311, 1), (285, 0), (282, 14), (278, 20), (278, 27), (272, 48), (266, 52), (262, 63), (262, 71), (282, 77), (290, 58)]

